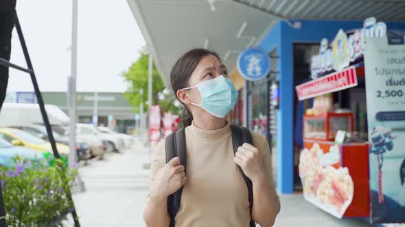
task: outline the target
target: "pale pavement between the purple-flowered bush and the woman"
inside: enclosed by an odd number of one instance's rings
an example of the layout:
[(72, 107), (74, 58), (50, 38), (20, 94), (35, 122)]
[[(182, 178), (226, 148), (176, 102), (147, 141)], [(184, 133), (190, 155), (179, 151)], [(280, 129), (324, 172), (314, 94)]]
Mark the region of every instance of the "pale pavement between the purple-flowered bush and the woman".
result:
[(135, 144), (80, 167), (86, 191), (76, 193), (73, 200), (81, 226), (144, 226), (142, 209), (149, 181), (149, 171), (142, 169), (145, 161), (148, 150)]

